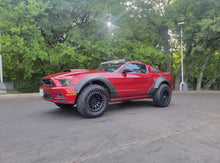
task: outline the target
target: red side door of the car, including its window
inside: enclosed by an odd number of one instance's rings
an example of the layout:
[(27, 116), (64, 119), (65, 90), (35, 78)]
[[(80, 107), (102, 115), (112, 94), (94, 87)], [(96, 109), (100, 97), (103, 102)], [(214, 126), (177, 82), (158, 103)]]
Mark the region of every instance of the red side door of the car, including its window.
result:
[(121, 98), (145, 96), (152, 82), (146, 65), (128, 63), (119, 71), (116, 87)]

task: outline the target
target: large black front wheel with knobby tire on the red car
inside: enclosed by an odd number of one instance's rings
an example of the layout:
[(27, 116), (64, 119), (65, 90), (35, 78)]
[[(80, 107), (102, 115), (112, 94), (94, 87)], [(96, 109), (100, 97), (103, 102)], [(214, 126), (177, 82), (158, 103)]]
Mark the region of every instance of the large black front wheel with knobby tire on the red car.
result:
[(109, 96), (105, 88), (100, 85), (89, 85), (79, 94), (76, 107), (83, 117), (96, 118), (104, 113), (108, 101)]

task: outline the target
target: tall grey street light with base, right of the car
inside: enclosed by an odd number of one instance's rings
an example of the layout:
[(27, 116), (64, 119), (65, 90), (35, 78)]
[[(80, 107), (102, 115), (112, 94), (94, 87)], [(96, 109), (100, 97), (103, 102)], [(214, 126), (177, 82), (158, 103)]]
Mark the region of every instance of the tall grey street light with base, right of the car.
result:
[(184, 22), (180, 22), (178, 23), (178, 26), (180, 26), (181, 28), (181, 33), (180, 33), (180, 37), (181, 37), (181, 76), (182, 76), (182, 81), (180, 83), (180, 91), (187, 91), (188, 90), (188, 85), (184, 83), (183, 80), (183, 26), (184, 26)]

